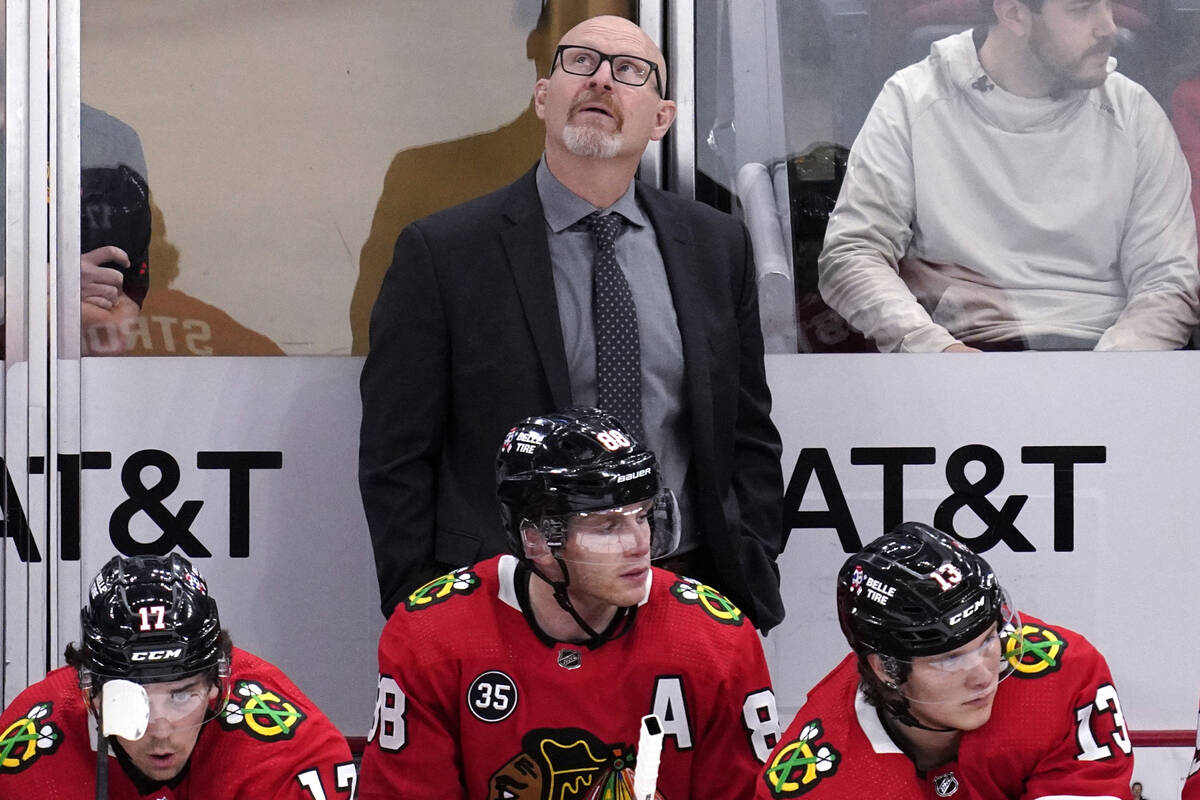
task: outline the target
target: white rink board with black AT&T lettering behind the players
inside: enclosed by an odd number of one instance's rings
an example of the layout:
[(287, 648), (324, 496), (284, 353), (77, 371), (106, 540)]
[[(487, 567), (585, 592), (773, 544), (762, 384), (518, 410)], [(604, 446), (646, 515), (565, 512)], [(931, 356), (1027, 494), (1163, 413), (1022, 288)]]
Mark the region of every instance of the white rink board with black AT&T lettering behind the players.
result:
[[(950, 453), (994, 449), (1004, 476), (990, 499), (1028, 495), (1014, 524), (1036, 552), (1001, 543), (985, 553), (1018, 603), (1105, 652), (1132, 728), (1192, 728), (1198, 359), (769, 356), (785, 480), (802, 449), (824, 449), (865, 541), (882, 530), (883, 470), (852, 465), (851, 449), (935, 449), (932, 465), (904, 470), (904, 516), (925, 521), (950, 494)], [(126, 500), (122, 464), (142, 450), (170, 453), (180, 483), (162, 503), (178, 513), (185, 500), (203, 501), (191, 530), (212, 558), (197, 563), (234, 639), (280, 663), (347, 735), (368, 724), (383, 621), (356, 485), (360, 367), (349, 357), (94, 359), (83, 375), (83, 449), (110, 452), (113, 463), (83, 474), (83, 573), (115, 552), (108, 533)], [(1074, 549), (1054, 552), (1054, 469), (1021, 463), (1021, 449), (1064, 445), (1103, 446), (1105, 462), (1075, 465)], [(250, 471), (250, 558), (229, 557), (229, 473), (198, 469), (199, 451), (282, 453), (282, 469)], [(143, 479), (152, 486), (156, 470)], [(800, 509), (826, 507), (814, 480)], [(968, 507), (955, 524), (983, 530)], [(148, 541), (161, 535), (145, 513), (131, 528)], [(766, 644), (785, 720), (846, 650), (833, 603), (844, 558), (832, 530), (798, 529), (780, 560), (788, 614)]]

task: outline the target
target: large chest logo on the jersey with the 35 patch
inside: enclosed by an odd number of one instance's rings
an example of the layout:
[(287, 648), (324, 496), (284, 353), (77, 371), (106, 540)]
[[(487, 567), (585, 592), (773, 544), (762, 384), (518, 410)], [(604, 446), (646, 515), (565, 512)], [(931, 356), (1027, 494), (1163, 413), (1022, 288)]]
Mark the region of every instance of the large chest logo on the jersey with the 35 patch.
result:
[[(498, 800), (634, 800), (636, 756), (582, 728), (534, 728), (521, 752), (492, 774)], [(666, 800), (658, 792), (656, 800)]]

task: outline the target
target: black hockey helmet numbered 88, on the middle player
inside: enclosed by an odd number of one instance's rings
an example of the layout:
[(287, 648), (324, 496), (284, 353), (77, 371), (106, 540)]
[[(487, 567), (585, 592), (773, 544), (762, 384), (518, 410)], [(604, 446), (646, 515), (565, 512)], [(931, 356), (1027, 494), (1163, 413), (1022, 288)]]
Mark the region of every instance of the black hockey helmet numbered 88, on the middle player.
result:
[[(605, 511), (655, 499), (670, 507), (652, 522), (654, 558), (678, 543), (674, 497), (662, 487), (658, 459), (611, 414), (569, 408), (521, 420), (496, 456), (496, 494), (509, 547), (524, 554), (522, 525), (547, 518)], [(673, 530), (664, 530), (673, 528)], [(563, 545), (565, 529), (547, 542)]]

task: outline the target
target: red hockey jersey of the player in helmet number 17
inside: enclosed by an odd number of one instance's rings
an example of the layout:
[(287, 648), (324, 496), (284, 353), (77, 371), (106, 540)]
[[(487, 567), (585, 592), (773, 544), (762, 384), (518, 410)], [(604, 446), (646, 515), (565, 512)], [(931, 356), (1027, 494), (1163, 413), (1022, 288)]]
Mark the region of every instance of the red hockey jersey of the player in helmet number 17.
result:
[[(182, 781), (140, 794), (109, 756), (110, 800), (347, 800), (355, 769), (344, 736), (278, 668), (233, 651), (230, 693), (200, 730)], [(0, 716), (0, 800), (86, 800), (96, 793), (95, 721), (62, 667)]]

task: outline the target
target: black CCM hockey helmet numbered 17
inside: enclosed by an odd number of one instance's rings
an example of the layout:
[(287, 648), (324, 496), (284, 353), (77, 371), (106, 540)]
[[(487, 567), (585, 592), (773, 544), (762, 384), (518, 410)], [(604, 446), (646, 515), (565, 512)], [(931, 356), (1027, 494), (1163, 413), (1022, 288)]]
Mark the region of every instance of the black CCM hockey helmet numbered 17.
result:
[(79, 612), (83, 668), (100, 682), (179, 680), (228, 670), (217, 603), (184, 557), (114, 557)]

